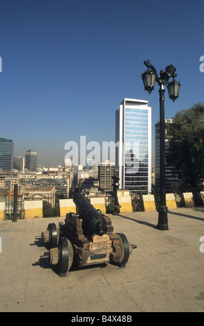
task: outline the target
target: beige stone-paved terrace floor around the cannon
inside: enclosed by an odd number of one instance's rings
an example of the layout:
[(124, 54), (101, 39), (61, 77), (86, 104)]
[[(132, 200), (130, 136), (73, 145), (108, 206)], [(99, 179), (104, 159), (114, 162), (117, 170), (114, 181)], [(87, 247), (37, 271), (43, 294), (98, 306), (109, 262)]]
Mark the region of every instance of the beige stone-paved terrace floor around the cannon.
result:
[(59, 277), (39, 264), (46, 248), (35, 237), (64, 218), (0, 222), (0, 311), (204, 311), (204, 207), (169, 211), (169, 230), (157, 212), (111, 216), (114, 233), (138, 246), (124, 268), (113, 264)]

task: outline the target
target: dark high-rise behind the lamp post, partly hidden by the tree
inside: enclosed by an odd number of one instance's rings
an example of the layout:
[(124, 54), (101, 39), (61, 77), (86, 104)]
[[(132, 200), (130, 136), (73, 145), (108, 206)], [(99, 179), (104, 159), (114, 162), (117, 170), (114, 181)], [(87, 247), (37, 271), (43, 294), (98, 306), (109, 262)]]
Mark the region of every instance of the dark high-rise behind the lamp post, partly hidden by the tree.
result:
[[(172, 123), (172, 119), (165, 119), (165, 123)], [(155, 189), (160, 188), (160, 123), (155, 125)], [(165, 155), (168, 155), (171, 151), (169, 136), (167, 135), (167, 130), (165, 130)], [(165, 161), (165, 189), (171, 190), (177, 187), (178, 176), (175, 173), (175, 167), (167, 164)]]

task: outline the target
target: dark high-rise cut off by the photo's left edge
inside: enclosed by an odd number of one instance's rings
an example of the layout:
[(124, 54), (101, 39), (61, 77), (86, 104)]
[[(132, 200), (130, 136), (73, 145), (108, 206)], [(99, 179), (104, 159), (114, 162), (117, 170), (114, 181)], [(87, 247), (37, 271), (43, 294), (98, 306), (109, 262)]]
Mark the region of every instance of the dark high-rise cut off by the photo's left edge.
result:
[(13, 165), (14, 144), (11, 139), (0, 138), (0, 168), (11, 171)]

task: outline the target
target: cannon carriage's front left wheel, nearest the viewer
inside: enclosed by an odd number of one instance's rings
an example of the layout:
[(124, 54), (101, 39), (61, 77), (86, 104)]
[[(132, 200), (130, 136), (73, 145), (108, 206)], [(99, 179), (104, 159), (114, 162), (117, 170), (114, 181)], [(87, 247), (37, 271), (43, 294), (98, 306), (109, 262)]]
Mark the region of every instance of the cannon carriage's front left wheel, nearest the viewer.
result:
[(58, 271), (59, 276), (66, 276), (66, 272), (71, 268), (73, 263), (73, 246), (71, 242), (65, 237), (59, 239), (59, 262)]

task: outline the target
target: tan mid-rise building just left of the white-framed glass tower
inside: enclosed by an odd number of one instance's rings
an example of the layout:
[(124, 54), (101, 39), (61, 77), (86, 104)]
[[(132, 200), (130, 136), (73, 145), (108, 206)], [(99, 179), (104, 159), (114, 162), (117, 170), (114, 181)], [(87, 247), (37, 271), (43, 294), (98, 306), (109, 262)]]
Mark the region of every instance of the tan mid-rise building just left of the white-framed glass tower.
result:
[(104, 160), (104, 162), (100, 163), (98, 166), (98, 180), (100, 188), (104, 189), (104, 191), (112, 191), (113, 190), (113, 179), (112, 176), (115, 171), (115, 163), (111, 163), (109, 160)]

